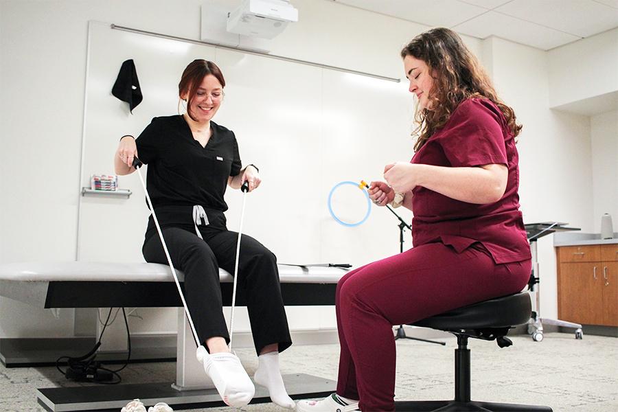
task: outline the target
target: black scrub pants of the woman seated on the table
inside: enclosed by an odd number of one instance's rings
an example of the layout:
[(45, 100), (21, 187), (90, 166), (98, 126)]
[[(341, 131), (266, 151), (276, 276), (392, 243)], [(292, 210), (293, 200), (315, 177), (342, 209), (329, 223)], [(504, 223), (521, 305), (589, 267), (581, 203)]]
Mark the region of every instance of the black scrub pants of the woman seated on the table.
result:
[[(219, 267), (233, 275), (238, 233), (200, 226), (203, 240), (193, 226), (164, 227), (174, 268), (185, 273), (183, 291), (193, 323), (204, 346), (205, 341), (221, 336), (229, 343), (222, 312)], [(146, 262), (168, 264), (157, 233), (144, 242)], [(277, 271), (277, 258), (258, 240), (242, 235), (238, 288), (244, 289), (253, 343), (258, 355), (266, 345), (277, 343), (279, 352), (292, 345)]]

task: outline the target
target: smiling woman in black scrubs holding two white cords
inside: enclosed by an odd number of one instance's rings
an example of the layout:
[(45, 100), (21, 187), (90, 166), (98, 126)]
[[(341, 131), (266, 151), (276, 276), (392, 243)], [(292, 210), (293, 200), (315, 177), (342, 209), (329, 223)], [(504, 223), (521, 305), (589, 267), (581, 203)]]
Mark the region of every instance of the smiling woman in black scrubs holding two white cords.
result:
[[(212, 122), (223, 98), (225, 79), (207, 60), (194, 60), (183, 72), (179, 96), (183, 115), (155, 117), (133, 139), (120, 139), (117, 174), (135, 172), (133, 158), (148, 165), (147, 187), (172, 264), (185, 273), (184, 293), (200, 347), (198, 359), (230, 406), (249, 403), (255, 388), (234, 354), (222, 312), (219, 270), (233, 273), (238, 233), (227, 230), (227, 185), (249, 192), (260, 185), (255, 165), (242, 168), (236, 137)], [(150, 216), (142, 249), (147, 262), (168, 264)], [(279, 352), (292, 342), (284, 310), (275, 255), (258, 240), (242, 235), (238, 285), (244, 288), (259, 365), (255, 382), (276, 404), (294, 408), (279, 371)]]

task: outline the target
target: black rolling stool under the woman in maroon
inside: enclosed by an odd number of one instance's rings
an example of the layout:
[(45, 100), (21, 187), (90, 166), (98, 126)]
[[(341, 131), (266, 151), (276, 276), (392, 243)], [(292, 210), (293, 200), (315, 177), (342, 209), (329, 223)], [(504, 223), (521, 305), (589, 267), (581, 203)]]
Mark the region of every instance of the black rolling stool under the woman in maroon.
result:
[(527, 292), (490, 299), (478, 304), (437, 314), (413, 323), (414, 326), (444, 330), (457, 336), (455, 350), (455, 400), (395, 402), (396, 411), (544, 411), (550, 407), (500, 404), (470, 400), (470, 350), (468, 338), (496, 340), (499, 347), (512, 345), (506, 337), (514, 325), (530, 319), (532, 306)]

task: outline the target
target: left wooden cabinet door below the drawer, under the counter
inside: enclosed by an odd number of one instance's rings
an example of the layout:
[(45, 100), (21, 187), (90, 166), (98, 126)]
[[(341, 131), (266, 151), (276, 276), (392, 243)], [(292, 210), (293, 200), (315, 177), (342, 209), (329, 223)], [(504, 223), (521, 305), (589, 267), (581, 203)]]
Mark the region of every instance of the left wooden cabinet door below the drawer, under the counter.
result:
[(563, 321), (603, 323), (602, 267), (599, 263), (560, 264), (559, 313)]

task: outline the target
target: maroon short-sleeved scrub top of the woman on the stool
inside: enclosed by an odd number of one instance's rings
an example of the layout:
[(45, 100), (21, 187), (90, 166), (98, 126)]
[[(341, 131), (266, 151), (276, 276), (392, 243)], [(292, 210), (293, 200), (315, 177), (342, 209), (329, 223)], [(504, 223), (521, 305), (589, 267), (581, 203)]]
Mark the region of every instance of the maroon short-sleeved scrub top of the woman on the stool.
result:
[(494, 203), (457, 201), (425, 187), (412, 190), (413, 245), (442, 242), (458, 253), (481, 242), (496, 264), (531, 258), (519, 211), (519, 168), (515, 139), (500, 109), (490, 100), (461, 102), (444, 127), (418, 150), (411, 163), (452, 168), (500, 163), (508, 166), (507, 186)]

